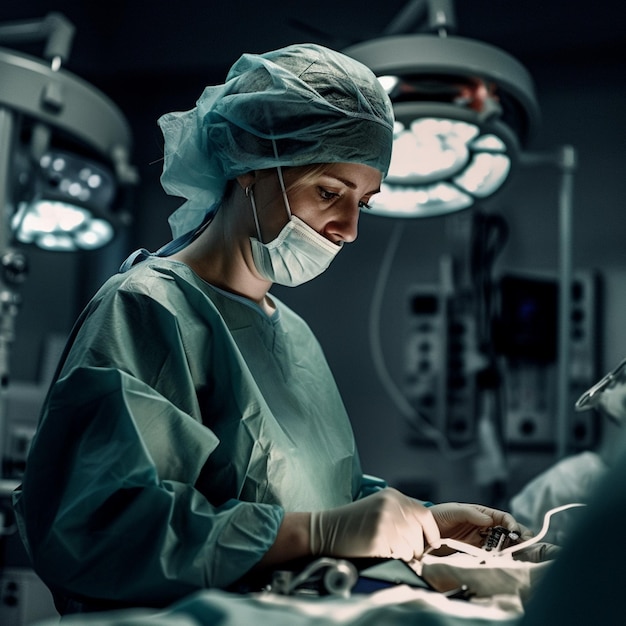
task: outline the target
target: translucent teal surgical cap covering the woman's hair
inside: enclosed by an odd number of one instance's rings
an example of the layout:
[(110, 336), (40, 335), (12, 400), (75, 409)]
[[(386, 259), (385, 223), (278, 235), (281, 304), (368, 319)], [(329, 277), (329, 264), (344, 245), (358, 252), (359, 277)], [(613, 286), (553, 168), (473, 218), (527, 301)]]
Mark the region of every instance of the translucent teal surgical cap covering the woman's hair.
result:
[(214, 213), (226, 182), (258, 169), (360, 163), (387, 173), (393, 110), (367, 67), (315, 44), (244, 54), (190, 111), (163, 115), (161, 184), (186, 202), (174, 237)]

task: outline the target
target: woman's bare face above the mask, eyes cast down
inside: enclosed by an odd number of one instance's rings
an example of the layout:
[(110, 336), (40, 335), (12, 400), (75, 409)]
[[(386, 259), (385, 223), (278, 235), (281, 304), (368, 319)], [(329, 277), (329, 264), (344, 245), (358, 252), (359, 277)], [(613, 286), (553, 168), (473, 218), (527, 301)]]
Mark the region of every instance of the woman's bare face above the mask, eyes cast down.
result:
[[(380, 190), (381, 173), (358, 163), (329, 163), (316, 168), (284, 168), (291, 212), (333, 243), (354, 241), (360, 211)], [(267, 243), (288, 221), (278, 172), (257, 172), (255, 198), (261, 235)]]

